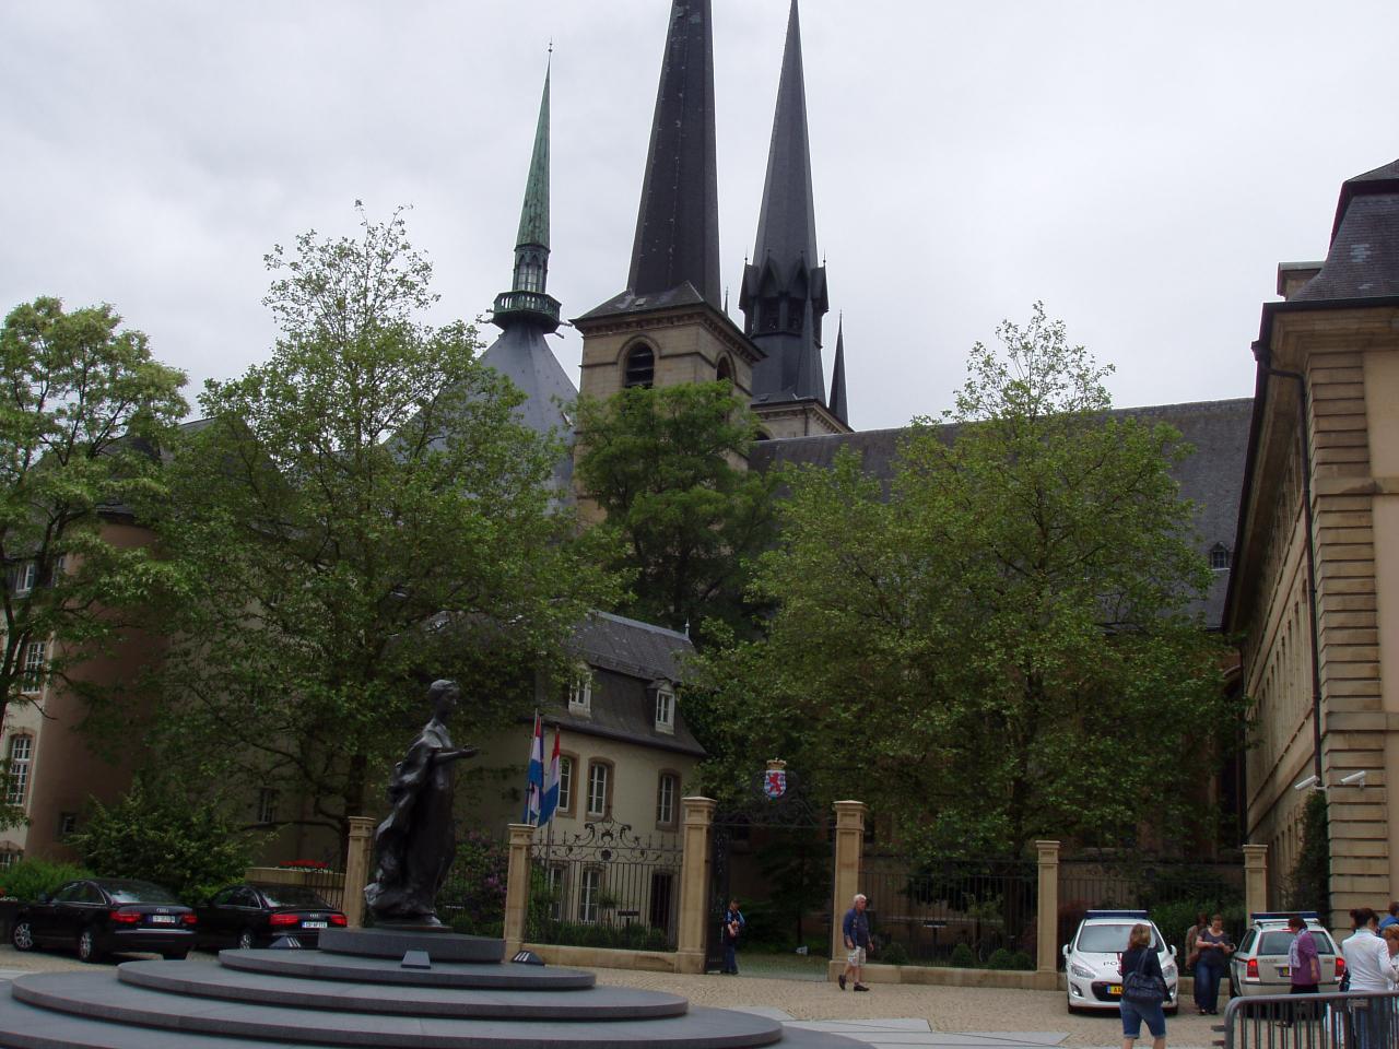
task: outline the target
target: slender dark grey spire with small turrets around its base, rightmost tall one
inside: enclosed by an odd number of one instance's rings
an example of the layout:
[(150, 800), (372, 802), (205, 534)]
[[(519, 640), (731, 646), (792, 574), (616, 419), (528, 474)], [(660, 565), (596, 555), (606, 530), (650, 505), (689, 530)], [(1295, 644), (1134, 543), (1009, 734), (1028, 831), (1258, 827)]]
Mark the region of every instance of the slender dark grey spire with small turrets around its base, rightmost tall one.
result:
[(821, 317), (828, 305), (825, 266), (817, 259), (802, 25), (792, 0), (758, 238), (739, 291), (744, 333), (767, 352), (753, 369), (754, 400), (814, 397), (825, 403)]

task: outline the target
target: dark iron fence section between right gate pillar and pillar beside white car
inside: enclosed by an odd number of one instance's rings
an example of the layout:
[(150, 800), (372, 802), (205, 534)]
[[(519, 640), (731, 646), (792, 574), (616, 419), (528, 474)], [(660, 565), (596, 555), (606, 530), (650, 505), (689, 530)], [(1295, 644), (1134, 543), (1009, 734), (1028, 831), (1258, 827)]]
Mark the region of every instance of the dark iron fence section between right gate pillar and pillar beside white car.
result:
[(1038, 890), (1032, 860), (867, 856), (874, 961), (1032, 969)]

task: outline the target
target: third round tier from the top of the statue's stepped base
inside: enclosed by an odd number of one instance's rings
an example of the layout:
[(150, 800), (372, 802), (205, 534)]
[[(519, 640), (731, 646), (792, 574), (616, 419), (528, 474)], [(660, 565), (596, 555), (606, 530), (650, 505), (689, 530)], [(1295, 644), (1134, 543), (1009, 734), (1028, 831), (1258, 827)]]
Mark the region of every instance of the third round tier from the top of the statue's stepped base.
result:
[(634, 987), (593, 987), (569, 994), (547, 989), (385, 987), (371, 980), (239, 972), (213, 961), (133, 961), (119, 965), (116, 975), (122, 983), (171, 994), (341, 1013), (590, 1021), (677, 1017), (690, 1004), (679, 994)]

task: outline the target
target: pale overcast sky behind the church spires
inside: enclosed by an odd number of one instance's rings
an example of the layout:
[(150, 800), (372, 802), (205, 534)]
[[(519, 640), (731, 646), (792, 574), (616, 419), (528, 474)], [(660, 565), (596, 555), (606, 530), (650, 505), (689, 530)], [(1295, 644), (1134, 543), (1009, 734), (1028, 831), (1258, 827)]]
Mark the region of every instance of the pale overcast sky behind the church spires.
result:
[[(741, 323), (788, 0), (713, 7)], [(474, 317), (509, 287), (553, 38), (548, 290), (578, 316), (625, 285), (667, 13), (0, 0), (0, 308), (112, 302), (193, 400), (269, 352), (262, 256), (362, 199), (413, 206), (438, 319)], [(802, 29), (858, 429), (949, 407), (1035, 299), (1119, 406), (1251, 394), (1276, 264), (1322, 257), (1340, 182), (1399, 155), (1395, 0), (802, 0)]]

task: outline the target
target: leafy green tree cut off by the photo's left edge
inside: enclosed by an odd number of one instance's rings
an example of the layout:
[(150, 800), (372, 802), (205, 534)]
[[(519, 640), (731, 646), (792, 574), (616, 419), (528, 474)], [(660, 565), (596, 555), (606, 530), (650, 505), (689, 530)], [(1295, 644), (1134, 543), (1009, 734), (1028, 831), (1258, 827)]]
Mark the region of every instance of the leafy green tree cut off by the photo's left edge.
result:
[[(0, 327), (0, 718), (120, 636), (157, 586), (145, 547), (106, 524), (162, 488), (152, 456), (185, 376), (112, 306), (17, 306)], [(14, 822), (17, 811), (0, 813)]]

